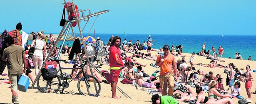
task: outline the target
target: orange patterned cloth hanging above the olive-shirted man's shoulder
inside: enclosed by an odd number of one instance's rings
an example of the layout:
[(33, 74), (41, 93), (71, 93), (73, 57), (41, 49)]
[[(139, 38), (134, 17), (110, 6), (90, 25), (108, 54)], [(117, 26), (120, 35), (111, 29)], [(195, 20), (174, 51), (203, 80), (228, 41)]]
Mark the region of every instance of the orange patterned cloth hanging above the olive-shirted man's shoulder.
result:
[(22, 46), (22, 37), (20, 35), (20, 31), (19, 30), (12, 30), (12, 31), (10, 31), (8, 33), (9, 33), (9, 35), (11, 37), (13, 37), (13, 43), (15, 45)]

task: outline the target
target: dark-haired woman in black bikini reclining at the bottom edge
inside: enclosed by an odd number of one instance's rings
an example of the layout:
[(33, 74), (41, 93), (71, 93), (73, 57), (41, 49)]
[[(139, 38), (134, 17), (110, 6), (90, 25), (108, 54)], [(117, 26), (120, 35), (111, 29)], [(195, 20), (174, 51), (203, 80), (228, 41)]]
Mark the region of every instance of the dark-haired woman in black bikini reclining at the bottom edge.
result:
[(197, 93), (197, 100), (196, 104), (234, 104), (233, 101), (229, 98), (222, 98), (219, 100), (209, 99), (208, 97), (204, 96), (204, 91), (202, 87), (196, 87)]

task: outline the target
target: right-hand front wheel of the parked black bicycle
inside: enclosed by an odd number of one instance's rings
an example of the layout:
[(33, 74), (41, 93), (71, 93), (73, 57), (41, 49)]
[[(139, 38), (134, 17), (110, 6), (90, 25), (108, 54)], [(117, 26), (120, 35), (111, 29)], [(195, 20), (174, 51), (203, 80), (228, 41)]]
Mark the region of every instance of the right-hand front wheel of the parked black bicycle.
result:
[[(95, 84), (93, 80), (95, 81)], [(86, 75), (86, 78), (83, 76), (77, 82), (77, 89), (82, 95), (87, 94), (89, 96), (98, 97), (100, 92), (100, 83), (96, 77), (92, 75)]]

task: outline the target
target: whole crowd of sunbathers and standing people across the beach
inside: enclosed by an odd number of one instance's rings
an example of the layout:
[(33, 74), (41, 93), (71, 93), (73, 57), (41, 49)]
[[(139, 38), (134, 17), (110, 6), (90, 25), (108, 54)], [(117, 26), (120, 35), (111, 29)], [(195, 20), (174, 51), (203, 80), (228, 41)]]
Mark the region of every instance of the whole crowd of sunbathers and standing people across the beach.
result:
[[(16, 29), (21, 30), (21, 24), (17, 24)], [(7, 41), (5, 44), (7, 47), (3, 50), (1, 54), (2, 60), (7, 61), (7, 69), (8, 74), (10, 75), (10, 84), (12, 87), (12, 102), (19, 103), (18, 101), (18, 92), (17, 92), (17, 79), (21, 76), (23, 72), (25, 72), (34, 82), (34, 78), (32, 77), (31, 70), (27, 70), (27, 59), (31, 58), (34, 69), (35, 76), (37, 76), (39, 70), (42, 67), (43, 61), (47, 55), (50, 55), (50, 58), (61, 58), (61, 55), (72, 52), (72, 47), (66, 46), (56, 47), (52, 50), (53, 45), (55, 44), (55, 38), (50, 34), (50, 37), (43, 35), (44, 31), (41, 32), (31, 32), (33, 36), (33, 40), (31, 44), (24, 44), (23, 46), (18, 46), (15, 44), (15, 40), (11, 36), (5, 37)], [(49, 43), (48, 43), (49, 41)], [(155, 94), (152, 96), (153, 104), (162, 104), (169, 102), (170, 104), (177, 104), (177, 101), (181, 102), (194, 102), (194, 103), (204, 103), (204, 104), (213, 104), (213, 103), (221, 103), (221, 104), (234, 104), (231, 99), (238, 98), (244, 99), (240, 95), (241, 92), (241, 84), (245, 84), (246, 93), (247, 93), (247, 102), (251, 101), (251, 88), (253, 76), (250, 72), (250, 66), (246, 66), (246, 72), (242, 72), (244, 69), (238, 70), (233, 63), (229, 63), (228, 66), (224, 66), (221, 64), (217, 64), (217, 61), (225, 62), (222, 57), (224, 54), (223, 48), (219, 47), (219, 52), (215, 52), (214, 47), (212, 47), (211, 51), (213, 51), (213, 55), (205, 50), (206, 43), (204, 42), (202, 46), (201, 52), (198, 55), (206, 56), (211, 59), (209, 64), (199, 63), (197, 65), (211, 67), (211, 68), (223, 68), (229, 76), (229, 80), (227, 83), (229, 84), (229, 88), (225, 89), (223, 85), (223, 78), (220, 74), (216, 74), (214, 76), (214, 72), (204, 72), (203, 70), (195, 69), (195, 64), (193, 62), (195, 53), (192, 53), (189, 57), (189, 64), (186, 63), (185, 57), (186, 55), (182, 54), (183, 46), (176, 46), (176, 50), (174, 45), (171, 47), (169, 45), (164, 45), (159, 50), (152, 48), (152, 42), (154, 41), (149, 35), (147, 42), (143, 42), (140, 44), (139, 40), (136, 43), (124, 41), (121, 43), (122, 39), (118, 36), (111, 36), (109, 38), (109, 42), (107, 45), (103, 44), (103, 41), (100, 38), (97, 38), (96, 44), (88, 44), (85, 47), (89, 49), (89, 47), (93, 48), (92, 54), (88, 54), (89, 62), (94, 64), (94, 61), (99, 61), (100, 65), (109, 65), (111, 81), (103, 80), (99, 73), (95, 70), (90, 72), (89, 64), (85, 65), (85, 71), (87, 74), (92, 74), (99, 80), (99, 82), (111, 83), (112, 90), (112, 98), (119, 99), (116, 95), (117, 83), (119, 82), (119, 77), (127, 78), (128, 80), (134, 82), (140, 87), (149, 88), (149, 89), (157, 89), (158, 92), (161, 92), (162, 96), (159, 94)], [(74, 42), (75, 43), (75, 42)], [(79, 47), (82, 45), (78, 43)], [(73, 44), (74, 46), (74, 44)], [(121, 47), (122, 46), (122, 47)], [(26, 55), (25, 51), (29, 50), (30, 47), (35, 47), (35, 52), (32, 55)], [(60, 50), (62, 48), (62, 50)], [(52, 53), (50, 54), (50, 50)], [(73, 48), (74, 50), (74, 48)], [(143, 53), (141, 50), (147, 50), (147, 53)], [(83, 51), (91, 52), (92, 50), (82, 50), (80, 52), (75, 52), (75, 59), (79, 60), (79, 56), (82, 59), (86, 59), (86, 54)], [(158, 54), (153, 55), (152, 51), (159, 51)], [(131, 53), (132, 55), (128, 55)], [(12, 56), (12, 57), (10, 57)], [(59, 57), (58, 57), (59, 56)], [(74, 56), (74, 55), (70, 55)], [(176, 60), (176, 57), (183, 57), (182, 59)], [(142, 64), (137, 61), (136, 58), (142, 59), (151, 59), (155, 61), (155, 66), (160, 67), (160, 75), (159, 77), (154, 76), (152, 79), (147, 79), (144, 77), (146, 73), (146, 69), (144, 68), (147, 64)], [(9, 61), (12, 59), (16, 59), (17, 61)], [(235, 59), (243, 59), (240, 53), (235, 55)], [(73, 67), (78, 67), (77, 62)], [(97, 66), (96, 64), (94, 64)], [(133, 69), (133, 67), (137, 67)], [(74, 77), (79, 71), (73, 69), (71, 72), (72, 77)], [(155, 72), (154, 74), (156, 74)], [(199, 78), (198, 76), (203, 76)], [(151, 76), (151, 77), (152, 77)], [(77, 77), (79, 79), (81, 76)], [(150, 76), (149, 76), (150, 77)], [(239, 80), (239, 81), (238, 81)], [(207, 90), (208, 97), (204, 96), (204, 90)], [(196, 90), (196, 94), (194, 94), (193, 90)], [(230, 90), (230, 91), (229, 91)], [(230, 94), (227, 94), (227, 93)], [(219, 99), (222, 98), (222, 99)]]

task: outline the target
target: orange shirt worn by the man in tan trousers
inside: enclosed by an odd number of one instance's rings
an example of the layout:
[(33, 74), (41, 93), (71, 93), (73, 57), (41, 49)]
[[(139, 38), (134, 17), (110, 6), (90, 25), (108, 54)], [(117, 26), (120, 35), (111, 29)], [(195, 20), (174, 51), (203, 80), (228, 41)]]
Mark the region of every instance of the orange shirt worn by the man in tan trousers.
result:
[[(161, 56), (160, 54), (157, 56), (157, 61), (161, 61)], [(172, 64), (175, 64), (175, 57), (172, 54), (168, 54), (167, 56), (164, 56), (164, 62), (160, 65), (160, 75), (165, 75), (165, 74), (174, 74), (174, 71), (172, 69)]]

